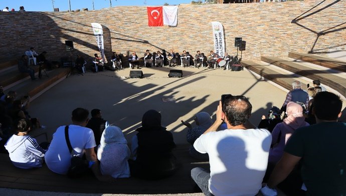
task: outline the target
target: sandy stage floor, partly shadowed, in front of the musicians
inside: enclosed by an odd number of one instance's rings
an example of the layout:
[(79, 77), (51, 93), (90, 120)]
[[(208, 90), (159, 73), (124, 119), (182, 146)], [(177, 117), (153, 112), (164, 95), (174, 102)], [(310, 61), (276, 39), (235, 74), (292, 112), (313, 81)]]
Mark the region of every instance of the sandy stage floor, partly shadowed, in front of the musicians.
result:
[(176, 143), (186, 144), (187, 128), (181, 120), (195, 126), (194, 115), (202, 111), (213, 115), (215, 120), (221, 94), (248, 97), (253, 107), (250, 122), (257, 126), (269, 109), (281, 107), (287, 93), (246, 69), (237, 72), (176, 69), (183, 70), (182, 78), (169, 78), (170, 68), (166, 67), (142, 68), (142, 79), (128, 78), (128, 68), (71, 75), (34, 100), (29, 112), (47, 126), (37, 132), (46, 132), (50, 141), (59, 126), (71, 124), (71, 113), (75, 108), (89, 111), (98, 108), (102, 117), (120, 127), (130, 142), (136, 133), (134, 130), (141, 126), (142, 115), (154, 109), (160, 112), (162, 126), (173, 133)]

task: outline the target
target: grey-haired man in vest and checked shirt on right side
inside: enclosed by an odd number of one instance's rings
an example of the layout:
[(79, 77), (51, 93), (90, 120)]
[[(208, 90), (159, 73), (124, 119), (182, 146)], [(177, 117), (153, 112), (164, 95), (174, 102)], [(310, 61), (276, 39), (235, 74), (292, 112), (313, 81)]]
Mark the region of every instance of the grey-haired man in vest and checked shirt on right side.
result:
[(293, 90), (289, 91), (286, 95), (285, 102), (280, 109), (281, 112), (286, 112), (286, 107), (289, 102), (302, 103), (305, 105), (305, 109), (307, 109), (307, 106), (309, 104), (309, 95), (306, 91), (301, 89), (300, 81), (292, 82), (292, 88)]

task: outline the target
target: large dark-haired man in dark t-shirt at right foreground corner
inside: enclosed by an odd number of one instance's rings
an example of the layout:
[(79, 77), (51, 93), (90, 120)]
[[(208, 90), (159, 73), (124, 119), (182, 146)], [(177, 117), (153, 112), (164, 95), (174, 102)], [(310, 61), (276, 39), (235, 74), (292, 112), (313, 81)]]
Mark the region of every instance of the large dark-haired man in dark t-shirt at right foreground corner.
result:
[[(337, 122), (342, 101), (331, 92), (313, 98), (316, 124), (296, 129), (276, 164), (266, 187), (271, 191), (300, 161), (308, 195), (344, 195), (346, 192), (346, 123)], [(275, 194), (271, 194), (275, 195)]]

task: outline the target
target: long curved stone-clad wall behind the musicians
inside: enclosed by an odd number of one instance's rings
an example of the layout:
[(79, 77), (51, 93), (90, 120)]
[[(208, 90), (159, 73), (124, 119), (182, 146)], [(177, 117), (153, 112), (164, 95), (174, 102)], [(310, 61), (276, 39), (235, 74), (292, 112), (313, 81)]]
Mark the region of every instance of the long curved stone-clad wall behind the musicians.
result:
[[(74, 52), (98, 52), (91, 23), (103, 25), (106, 55), (126, 55), (146, 49), (213, 50), (212, 21), (224, 25), (226, 51), (235, 55), (234, 38), (246, 41), (243, 59), (285, 55), (288, 51), (328, 55), (346, 51), (346, 1), (254, 4), (180, 5), (177, 27), (148, 27), (146, 7), (114, 7), (88, 12), (0, 13), (0, 59), (18, 58), (29, 47), (47, 51), (50, 59), (68, 56), (65, 40), (74, 41)], [(295, 22), (296, 21), (296, 22)]]

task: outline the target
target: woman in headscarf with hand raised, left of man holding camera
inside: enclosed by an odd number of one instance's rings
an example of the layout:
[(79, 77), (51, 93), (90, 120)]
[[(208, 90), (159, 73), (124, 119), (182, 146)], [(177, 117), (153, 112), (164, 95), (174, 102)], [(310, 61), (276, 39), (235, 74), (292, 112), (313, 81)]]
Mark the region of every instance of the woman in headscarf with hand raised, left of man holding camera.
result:
[(206, 112), (200, 112), (196, 114), (195, 117), (197, 127), (192, 128), (191, 124), (188, 122), (182, 121), (183, 125), (189, 128), (188, 133), (186, 134), (187, 141), (192, 145), (189, 149), (190, 156), (197, 159), (208, 159), (208, 154), (202, 154), (194, 148), (194, 143), (210, 126), (213, 125), (213, 121), (210, 115)]

